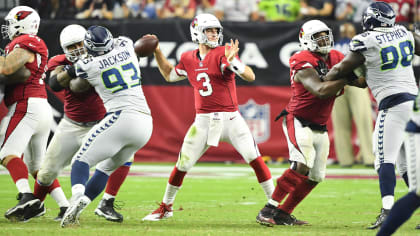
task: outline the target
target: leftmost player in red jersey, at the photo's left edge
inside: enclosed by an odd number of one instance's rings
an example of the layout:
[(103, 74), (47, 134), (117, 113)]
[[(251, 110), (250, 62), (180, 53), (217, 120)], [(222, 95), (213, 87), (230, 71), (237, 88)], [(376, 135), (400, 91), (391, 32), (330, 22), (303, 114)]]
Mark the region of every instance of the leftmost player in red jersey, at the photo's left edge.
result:
[(26, 81), (6, 85), (4, 100), (9, 112), (1, 122), (0, 160), (19, 191), (19, 203), (9, 209), (5, 217), (23, 221), (27, 220), (24, 211), (38, 209), (41, 205), (29, 187), (28, 171), (36, 176), (53, 117), (44, 84), (48, 49), (36, 36), (40, 18), (34, 9), (18, 6), (4, 19), (6, 25), (2, 26), (2, 35), (11, 42), (5, 48), (6, 56), (0, 57), (0, 74), (9, 75), (22, 67), (31, 72)]

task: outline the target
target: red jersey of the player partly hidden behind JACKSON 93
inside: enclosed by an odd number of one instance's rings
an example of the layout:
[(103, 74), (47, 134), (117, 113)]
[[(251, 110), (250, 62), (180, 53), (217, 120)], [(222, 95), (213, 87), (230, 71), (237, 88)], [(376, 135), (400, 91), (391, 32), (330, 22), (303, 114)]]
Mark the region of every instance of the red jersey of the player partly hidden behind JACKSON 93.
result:
[[(57, 55), (48, 61), (48, 71), (60, 65), (71, 65), (64, 54)], [(93, 88), (84, 93), (73, 93), (64, 89), (64, 113), (77, 122), (98, 121), (104, 118), (106, 110), (101, 98)]]

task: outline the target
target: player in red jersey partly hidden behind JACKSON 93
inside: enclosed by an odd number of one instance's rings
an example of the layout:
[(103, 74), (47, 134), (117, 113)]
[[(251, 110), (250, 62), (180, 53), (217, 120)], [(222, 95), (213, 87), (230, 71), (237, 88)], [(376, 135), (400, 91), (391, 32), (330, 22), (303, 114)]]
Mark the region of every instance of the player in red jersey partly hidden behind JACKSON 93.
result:
[[(102, 100), (93, 88), (85, 92), (75, 93), (69, 88), (69, 78), (57, 78), (65, 65), (72, 65), (86, 57), (83, 47), (86, 29), (81, 25), (68, 25), (60, 33), (60, 45), (64, 54), (57, 55), (48, 61), (48, 71), (51, 71), (49, 85), (52, 90), (64, 91), (64, 117), (61, 119), (47, 148), (45, 158), (35, 183), (34, 195), (44, 201), (49, 189), (55, 185), (59, 172), (70, 164), (71, 158), (77, 152), (85, 134), (105, 116)], [(123, 216), (114, 209), (115, 195), (124, 182), (132, 160), (119, 167), (108, 180), (103, 199), (95, 210), (99, 216), (107, 220), (122, 222)], [(51, 195), (54, 197), (53, 191)], [(61, 198), (62, 199), (62, 198)], [(64, 197), (58, 201), (60, 213), (54, 219), (61, 221), (69, 203)]]

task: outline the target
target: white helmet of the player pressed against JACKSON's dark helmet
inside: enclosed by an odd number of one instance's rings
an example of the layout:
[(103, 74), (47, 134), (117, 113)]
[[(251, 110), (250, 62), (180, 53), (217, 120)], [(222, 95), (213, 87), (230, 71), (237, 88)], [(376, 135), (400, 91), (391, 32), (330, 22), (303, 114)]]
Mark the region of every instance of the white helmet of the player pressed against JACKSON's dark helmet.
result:
[(66, 55), (67, 60), (76, 62), (79, 58), (87, 55), (85, 47), (78, 47), (69, 50), (69, 46), (83, 42), (86, 29), (81, 25), (68, 25), (60, 33), (60, 45)]

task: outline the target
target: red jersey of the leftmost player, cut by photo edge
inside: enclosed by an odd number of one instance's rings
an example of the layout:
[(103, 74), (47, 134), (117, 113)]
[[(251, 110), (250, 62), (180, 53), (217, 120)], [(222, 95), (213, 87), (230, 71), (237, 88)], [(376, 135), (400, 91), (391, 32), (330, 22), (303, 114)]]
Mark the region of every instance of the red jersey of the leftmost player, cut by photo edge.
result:
[(44, 77), (47, 70), (48, 48), (44, 41), (36, 35), (24, 34), (14, 38), (6, 46), (6, 54), (9, 54), (15, 48), (23, 48), (33, 52), (35, 60), (25, 64), (25, 67), (31, 72), (28, 80), (24, 83), (6, 86), (4, 96), (6, 106), (27, 100), (30, 97), (47, 98)]

